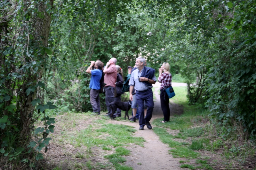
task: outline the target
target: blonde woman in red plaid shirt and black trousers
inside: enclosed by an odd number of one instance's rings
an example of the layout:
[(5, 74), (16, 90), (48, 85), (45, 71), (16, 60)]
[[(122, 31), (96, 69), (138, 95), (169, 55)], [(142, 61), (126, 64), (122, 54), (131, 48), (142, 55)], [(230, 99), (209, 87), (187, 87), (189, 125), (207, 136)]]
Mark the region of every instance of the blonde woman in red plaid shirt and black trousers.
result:
[(164, 62), (159, 68), (158, 82), (161, 83), (160, 86), (160, 101), (161, 108), (164, 114), (164, 120), (162, 123), (169, 122), (170, 120), (170, 108), (169, 108), (169, 97), (165, 92), (165, 89), (172, 85), (172, 75), (170, 73), (170, 64)]

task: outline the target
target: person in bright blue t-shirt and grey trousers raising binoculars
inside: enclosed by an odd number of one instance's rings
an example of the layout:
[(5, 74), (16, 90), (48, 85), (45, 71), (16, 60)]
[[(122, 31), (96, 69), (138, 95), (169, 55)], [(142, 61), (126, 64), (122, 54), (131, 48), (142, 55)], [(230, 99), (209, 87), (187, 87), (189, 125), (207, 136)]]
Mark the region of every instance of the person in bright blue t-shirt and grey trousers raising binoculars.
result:
[[(93, 68), (93, 70), (92, 70)], [(94, 115), (100, 115), (100, 79), (102, 76), (103, 63), (100, 60), (91, 61), (91, 65), (87, 68), (86, 73), (92, 74), (90, 85), (90, 103), (92, 105)]]

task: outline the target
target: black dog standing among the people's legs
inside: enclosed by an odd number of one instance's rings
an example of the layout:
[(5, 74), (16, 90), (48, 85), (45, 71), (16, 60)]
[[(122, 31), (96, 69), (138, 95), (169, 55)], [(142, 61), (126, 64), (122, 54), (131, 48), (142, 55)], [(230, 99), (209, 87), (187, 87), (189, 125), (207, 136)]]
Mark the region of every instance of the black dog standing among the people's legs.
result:
[(122, 101), (111, 102), (109, 105), (110, 109), (112, 110), (112, 113), (109, 115), (111, 120), (115, 119), (113, 117), (113, 114), (116, 112), (116, 108), (119, 108), (125, 111), (124, 120), (126, 120), (126, 116), (129, 119), (128, 111), (130, 110), (131, 106), (132, 106), (132, 102), (130, 100), (126, 102), (122, 102)]

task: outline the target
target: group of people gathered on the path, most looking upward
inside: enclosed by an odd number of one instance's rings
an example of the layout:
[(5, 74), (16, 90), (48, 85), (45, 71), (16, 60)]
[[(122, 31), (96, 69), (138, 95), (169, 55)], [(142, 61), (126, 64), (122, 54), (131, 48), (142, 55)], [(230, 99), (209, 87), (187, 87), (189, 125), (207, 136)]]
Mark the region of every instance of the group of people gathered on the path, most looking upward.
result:
[[(127, 89), (129, 85), (130, 100), (132, 101), (132, 117), (131, 121), (135, 122), (136, 117), (139, 118), (140, 130), (144, 129), (146, 125), (148, 129), (152, 129), (150, 120), (153, 113), (154, 101), (152, 84), (156, 83), (155, 69), (146, 67), (146, 60), (143, 57), (136, 58), (135, 66), (128, 67), (128, 75), (123, 81), (123, 70), (116, 65), (116, 58), (111, 58), (106, 66), (100, 60), (96, 62), (91, 61), (91, 65), (86, 70), (87, 73), (92, 74), (90, 81), (90, 102), (92, 104), (94, 115), (100, 115), (100, 79), (104, 75), (104, 90), (106, 106), (109, 115), (111, 113), (110, 103), (112, 101), (121, 101), (122, 90)], [(160, 100), (161, 108), (164, 114), (162, 123), (170, 120), (169, 97), (165, 89), (172, 84), (172, 75), (169, 72), (169, 63), (164, 62), (159, 68), (158, 82), (160, 86)], [(125, 87), (126, 85), (126, 87)], [(137, 113), (137, 115), (136, 115)], [(121, 116), (121, 110), (117, 109), (115, 116)]]

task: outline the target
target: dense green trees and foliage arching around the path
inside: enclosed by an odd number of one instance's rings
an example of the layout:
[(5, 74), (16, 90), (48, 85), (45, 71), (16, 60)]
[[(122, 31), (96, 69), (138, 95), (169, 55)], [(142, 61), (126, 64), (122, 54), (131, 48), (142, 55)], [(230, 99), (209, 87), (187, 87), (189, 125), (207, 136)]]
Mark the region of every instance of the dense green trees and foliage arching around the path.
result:
[[(188, 84), (190, 104), (202, 103), (226, 128), (222, 137), (232, 130), (255, 139), (255, 1), (2, 0), (0, 7), (0, 152), (9, 161), (48, 144), (47, 109), (91, 109), (85, 70), (111, 57), (124, 75), (138, 56), (156, 70), (170, 63)], [(104, 95), (101, 103), (104, 110)], [(34, 132), (38, 117), (44, 127)], [(43, 136), (37, 145), (32, 134)]]

